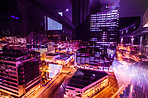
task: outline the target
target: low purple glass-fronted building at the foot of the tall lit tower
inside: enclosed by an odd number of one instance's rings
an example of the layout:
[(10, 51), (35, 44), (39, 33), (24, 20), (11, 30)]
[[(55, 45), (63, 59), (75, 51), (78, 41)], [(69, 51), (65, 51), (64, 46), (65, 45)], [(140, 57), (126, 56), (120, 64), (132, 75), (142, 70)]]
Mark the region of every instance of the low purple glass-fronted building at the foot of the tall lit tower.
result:
[(75, 53), (75, 66), (83, 69), (109, 69), (112, 60), (108, 57), (107, 49), (101, 47), (80, 48)]

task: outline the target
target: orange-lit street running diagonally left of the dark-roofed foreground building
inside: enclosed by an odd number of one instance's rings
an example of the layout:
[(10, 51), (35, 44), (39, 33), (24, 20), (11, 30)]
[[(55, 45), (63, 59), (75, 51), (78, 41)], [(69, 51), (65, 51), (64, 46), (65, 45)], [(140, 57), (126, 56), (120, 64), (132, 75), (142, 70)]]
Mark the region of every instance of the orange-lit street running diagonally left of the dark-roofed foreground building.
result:
[[(62, 71), (57, 74), (45, 87), (41, 87), (37, 92), (35, 92), (33, 95), (29, 96), (28, 98), (55, 98), (54, 93), (61, 88), (61, 86), (68, 83), (68, 78), (72, 77), (76, 69), (74, 69), (73, 65), (70, 65), (73, 62), (70, 62), (68, 66), (64, 67)], [(65, 81), (64, 84), (62, 84)], [(62, 92), (62, 95), (64, 95), (64, 90), (60, 91)], [(57, 95), (56, 95), (57, 96)], [(58, 94), (58, 97), (61, 96), (61, 94)], [(61, 98), (61, 97), (60, 97)]]

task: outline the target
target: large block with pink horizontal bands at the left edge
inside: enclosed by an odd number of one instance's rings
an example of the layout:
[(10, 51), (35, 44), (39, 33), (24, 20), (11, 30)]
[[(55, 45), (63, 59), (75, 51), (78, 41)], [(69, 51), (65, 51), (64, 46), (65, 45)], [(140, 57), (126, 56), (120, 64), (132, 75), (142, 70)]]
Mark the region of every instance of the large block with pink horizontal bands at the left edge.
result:
[(21, 97), (40, 86), (37, 52), (5, 50), (0, 54), (0, 90)]

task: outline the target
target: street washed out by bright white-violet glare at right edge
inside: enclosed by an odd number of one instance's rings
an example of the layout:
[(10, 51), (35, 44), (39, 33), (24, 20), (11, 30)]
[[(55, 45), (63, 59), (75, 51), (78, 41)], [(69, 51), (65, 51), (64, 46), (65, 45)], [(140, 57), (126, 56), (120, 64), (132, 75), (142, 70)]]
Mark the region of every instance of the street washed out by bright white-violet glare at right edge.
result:
[[(128, 84), (131, 84), (132, 88), (130, 90), (130, 97), (147, 98), (148, 62), (143, 62), (138, 58), (126, 58), (127, 53), (125, 52), (123, 55), (122, 51), (118, 51), (117, 55), (118, 60), (114, 60), (113, 69), (116, 73), (115, 75), (117, 77), (119, 86), (121, 87), (125, 85), (124, 87), (127, 87)], [(132, 55), (132, 57), (136, 57), (136, 54)]]

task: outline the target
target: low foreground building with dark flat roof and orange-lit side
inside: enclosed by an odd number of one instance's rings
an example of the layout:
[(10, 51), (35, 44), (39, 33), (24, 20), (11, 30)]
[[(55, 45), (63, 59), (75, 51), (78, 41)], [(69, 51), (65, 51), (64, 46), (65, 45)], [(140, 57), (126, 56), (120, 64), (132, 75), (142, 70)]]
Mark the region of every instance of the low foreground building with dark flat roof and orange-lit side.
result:
[(108, 85), (106, 72), (77, 69), (66, 86), (68, 98), (90, 98)]

